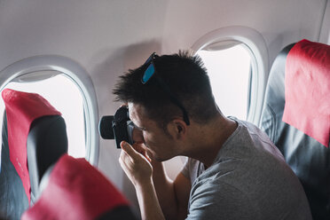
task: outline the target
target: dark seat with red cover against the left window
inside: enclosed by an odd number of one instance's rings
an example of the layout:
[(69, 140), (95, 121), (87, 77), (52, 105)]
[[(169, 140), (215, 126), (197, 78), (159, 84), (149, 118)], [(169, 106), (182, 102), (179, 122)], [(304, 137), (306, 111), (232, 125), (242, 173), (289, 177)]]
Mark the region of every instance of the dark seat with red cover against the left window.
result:
[(20, 219), (35, 202), (45, 169), (67, 153), (66, 125), (60, 113), (38, 94), (5, 89), (2, 96), (0, 218)]

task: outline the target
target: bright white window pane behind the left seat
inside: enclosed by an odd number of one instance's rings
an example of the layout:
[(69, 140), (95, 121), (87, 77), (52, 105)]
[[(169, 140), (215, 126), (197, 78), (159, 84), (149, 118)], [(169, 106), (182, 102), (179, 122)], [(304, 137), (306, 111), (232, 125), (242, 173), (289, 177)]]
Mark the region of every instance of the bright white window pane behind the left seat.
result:
[[(46, 73), (46, 75), (49, 74)], [(27, 77), (28, 75), (25, 76), (25, 79)], [(29, 78), (33, 79), (33, 75), (29, 76)], [(52, 106), (59, 110), (66, 122), (68, 154), (74, 157), (85, 157), (83, 97), (81, 91), (72, 80), (66, 75), (59, 74), (31, 83), (20, 83), (20, 80), (16, 80), (16, 82), (8, 83), (5, 88), (35, 92), (46, 98)], [(1, 109), (4, 109), (4, 107), (1, 107)]]

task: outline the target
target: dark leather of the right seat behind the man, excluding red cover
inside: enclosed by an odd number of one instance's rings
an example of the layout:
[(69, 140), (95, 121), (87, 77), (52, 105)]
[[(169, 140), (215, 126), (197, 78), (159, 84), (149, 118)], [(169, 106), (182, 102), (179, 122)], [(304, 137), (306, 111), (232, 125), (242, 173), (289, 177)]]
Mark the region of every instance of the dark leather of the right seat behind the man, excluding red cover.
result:
[[(330, 219), (330, 147), (282, 122), (285, 106), (285, 65), (295, 43), (280, 51), (267, 84), (260, 127), (299, 177), (314, 220)], [(308, 105), (308, 104), (306, 104)]]

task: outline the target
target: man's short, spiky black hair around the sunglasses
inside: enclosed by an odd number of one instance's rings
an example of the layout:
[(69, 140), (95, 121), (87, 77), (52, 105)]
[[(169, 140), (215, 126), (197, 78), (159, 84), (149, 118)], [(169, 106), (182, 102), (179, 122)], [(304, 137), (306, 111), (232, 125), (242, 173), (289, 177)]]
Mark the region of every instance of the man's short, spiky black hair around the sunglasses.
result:
[(217, 113), (207, 70), (200, 57), (189, 51), (179, 51), (172, 55), (156, 56), (156, 73), (145, 84), (141, 78), (146, 64), (120, 76), (113, 92), (116, 101), (132, 102), (145, 107), (150, 119), (161, 122), (162, 126), (174, 117), (183, 118), (182, 110), (170, 99), (154, 77), (159, 77), (169, 86), (169, 90), (185, 106), (190, 119), (206, 123)]

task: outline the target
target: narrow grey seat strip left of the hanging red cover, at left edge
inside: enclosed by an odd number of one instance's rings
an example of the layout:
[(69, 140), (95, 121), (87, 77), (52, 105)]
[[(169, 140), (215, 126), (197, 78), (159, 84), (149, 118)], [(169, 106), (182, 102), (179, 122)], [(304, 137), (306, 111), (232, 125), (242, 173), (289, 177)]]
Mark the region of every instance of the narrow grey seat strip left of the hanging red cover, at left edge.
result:
[(28, 208), (27, 195), (20, 176), (9, 157), (7, 117), (4, 112), (0, 173), (0, 219), (20, 219)]

